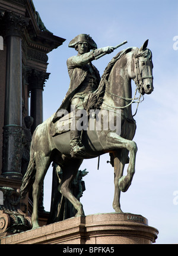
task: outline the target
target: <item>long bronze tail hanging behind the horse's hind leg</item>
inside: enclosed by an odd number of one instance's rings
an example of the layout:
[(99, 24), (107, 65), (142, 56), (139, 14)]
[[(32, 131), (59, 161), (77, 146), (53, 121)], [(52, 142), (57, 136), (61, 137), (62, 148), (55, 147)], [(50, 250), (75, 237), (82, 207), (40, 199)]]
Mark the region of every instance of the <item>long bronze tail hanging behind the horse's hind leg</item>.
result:
[(26, 193), (29, 191), (30, 187), (34, 183), (36, 175), (36, 164), (34, 160), (34, 149), (33, 149), (33, 144), (31, 143), (31, 148), (30, 148), (30, 161), (28, 164), (27, 171), (23, 177), (22, 180), (22, 185), (20, 188), (20, 196), (21, 198), (24, 198), (26, 196)]

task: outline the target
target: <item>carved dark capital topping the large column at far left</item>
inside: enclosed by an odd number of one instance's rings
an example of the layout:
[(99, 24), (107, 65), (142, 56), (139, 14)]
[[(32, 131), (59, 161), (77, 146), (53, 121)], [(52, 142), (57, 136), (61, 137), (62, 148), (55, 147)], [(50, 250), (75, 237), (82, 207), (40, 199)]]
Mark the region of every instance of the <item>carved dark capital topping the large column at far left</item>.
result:
[(5, 36), (19, 36), (23, 35), (23, 29), (28, 26), (30, 18), (17, 15), (11, 11), (6, 11), (4, 14), (5, 21)]

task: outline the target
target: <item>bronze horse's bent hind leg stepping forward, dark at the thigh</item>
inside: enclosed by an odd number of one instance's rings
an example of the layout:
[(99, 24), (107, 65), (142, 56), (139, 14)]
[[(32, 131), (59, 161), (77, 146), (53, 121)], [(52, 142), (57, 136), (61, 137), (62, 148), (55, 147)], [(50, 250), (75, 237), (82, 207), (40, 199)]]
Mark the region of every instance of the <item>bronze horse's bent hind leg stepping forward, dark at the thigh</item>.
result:
[(61, 180), (61, 193), (67, 198), (74, 208), (77, 210), (75, 216), (84, 216), (84, 210), (80, 201), (72, 195), (71, 183), (77, 175), (78, 168), (80, 167), (82, 160), (70, 159), (62, 167), (62, 180)]

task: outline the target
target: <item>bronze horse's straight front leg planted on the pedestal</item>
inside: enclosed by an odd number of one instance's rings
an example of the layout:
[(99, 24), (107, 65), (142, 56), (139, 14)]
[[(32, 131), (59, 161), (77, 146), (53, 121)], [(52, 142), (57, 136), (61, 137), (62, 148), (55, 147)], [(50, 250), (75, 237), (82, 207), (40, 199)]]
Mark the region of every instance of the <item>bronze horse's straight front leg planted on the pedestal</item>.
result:
[(123, 213), (120, 209), (120, 189), (119, 179), (123, 175), (123, 169), (125, 167), (126, 160), (128, 158), (128, 151), (120, 149), (119, 151), (113, 152), (114, 158), (114, 183), (115, 183), (115, 194), (113, 199), (113, 209), (116, 213)]

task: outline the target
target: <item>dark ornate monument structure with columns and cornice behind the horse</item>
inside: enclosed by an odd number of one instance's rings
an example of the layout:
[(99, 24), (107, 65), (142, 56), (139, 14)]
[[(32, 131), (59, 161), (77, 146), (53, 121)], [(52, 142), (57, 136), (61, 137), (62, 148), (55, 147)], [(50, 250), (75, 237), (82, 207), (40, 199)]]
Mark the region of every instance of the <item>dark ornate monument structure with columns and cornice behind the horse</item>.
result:
[(4, 195), (0, 236), (4, 236), (30, 227), (27, 216), (33, 203), (28, 198), (21, 201), (19, 189), (31, 135), (43, 121), (47, 54), (65, 39), (46, 29), (32, 0), (0, 0), (0, 36), (0, 195)]

